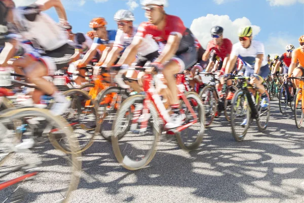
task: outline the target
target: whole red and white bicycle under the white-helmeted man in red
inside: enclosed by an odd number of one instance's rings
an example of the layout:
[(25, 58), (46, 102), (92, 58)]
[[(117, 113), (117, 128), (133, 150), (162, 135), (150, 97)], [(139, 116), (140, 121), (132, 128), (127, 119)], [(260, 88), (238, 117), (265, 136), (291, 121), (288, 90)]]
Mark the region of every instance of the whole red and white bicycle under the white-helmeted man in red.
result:
[[(169, 112), (156, 91), (156, 81), (156, 76), (146, 73), (143, 83), (145, 95), (128, 97), (112, 125), (113, 151), (117, 160), (128, 170), (139, 170), (153, 159), (163, 126), (170, 121)], [(182, 149), (194, 150), (200, 146), (204, 136), (204, 106), (197, 93), (184, 93), (181, 87), (186, 82), (184, 74), (177, 74), (176, 81), (181, 112), (186, 118), (180, 127), (164, 129), (164, 133), (175, 134)], [(132, 119), (129, 119), (130, 111)], [(130, 129), (126, 130), (128, 125)], [(127, 132), (123, 134), (125, 130)], [(189, 132), (191, 130), (194, 132)]]

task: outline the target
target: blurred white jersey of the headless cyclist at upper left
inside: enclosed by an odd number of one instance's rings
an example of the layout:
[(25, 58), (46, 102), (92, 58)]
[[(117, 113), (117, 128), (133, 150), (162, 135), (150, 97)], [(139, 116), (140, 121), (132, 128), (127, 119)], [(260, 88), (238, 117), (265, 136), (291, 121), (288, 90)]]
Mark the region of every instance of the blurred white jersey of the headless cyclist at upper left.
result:
[(38, 7), (14, 9), (13, 16), (20, 35), (37, 49), (53, 51), (68, 43), (64, 30)]

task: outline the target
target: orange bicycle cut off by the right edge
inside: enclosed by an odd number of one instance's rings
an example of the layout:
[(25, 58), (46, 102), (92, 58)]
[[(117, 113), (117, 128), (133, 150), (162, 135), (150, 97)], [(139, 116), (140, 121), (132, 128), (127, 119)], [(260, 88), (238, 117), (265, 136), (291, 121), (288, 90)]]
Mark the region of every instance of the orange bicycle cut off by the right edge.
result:
[(290, 79), (297, 79), (300, 81), (299, 87), (296, 89), (296, 93), (294, 95), (294, 118), (295, 125), (297, 128), (301, 128), (303, 124), (304, 118), (304, 77), (291, 77)]

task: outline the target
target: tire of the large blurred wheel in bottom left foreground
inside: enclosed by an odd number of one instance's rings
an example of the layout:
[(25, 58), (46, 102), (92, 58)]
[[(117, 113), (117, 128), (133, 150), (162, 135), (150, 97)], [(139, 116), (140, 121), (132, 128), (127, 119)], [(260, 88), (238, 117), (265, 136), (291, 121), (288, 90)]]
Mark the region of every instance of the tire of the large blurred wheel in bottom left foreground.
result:
[[(37, 109), (37, 108), (22, 108), (22, 109), (15, 109), (11, 111), (7, 111), (5, 113), (0, 114), (0, 120), (1, 119), (21, 119), (24, 117), (44, 117), (48, 121), (48, 123), (51, 123), (53, 126), (60, 128), (63, 133), (66, 134), (66, 142), (70, 146), (70, 150), (72, 152), (75, 152), (75, 146), (77, 145), (77, 140), (74, 140), (71, 136), (72, 129), (69, 127), (68, 123), (61, 119), (58, 116), (53, 116), (49, 110), (46, 109)], [(55, 146), (53, 146), (55, 147)], [(56, 202), (68, 202), (70, 198), (70, 194), (73, 190), (77, 189), (79, 180), (80, 180), (80, 171), (81, 171), (81, 161), (78, 159), (78, 155), (76, 153), (71, 153), (68, 155), (68, 163), (71, 167), (71, 173), (69, 175), (69, 182), (68, 182), (68, 188), (66, 188), (65, 194), (62, 195), (63, 199), (61, 198), (59, 201)], [(4, 164), (4, 161), (0, 163)], [(42, 171), (41, 173), (43, 173)], [(50, 177), (51, 178), (51, 177)], [(45, 186), (45, 185), (44, 185)], [(56, 192), (57, 190), (55, 190)], [(50, 193), (51, 191), (45, 191), (45, 193)], [(58, 191), (57, 191), (58, 192)], [(43, 192), (40, 192), (40, 194)]]

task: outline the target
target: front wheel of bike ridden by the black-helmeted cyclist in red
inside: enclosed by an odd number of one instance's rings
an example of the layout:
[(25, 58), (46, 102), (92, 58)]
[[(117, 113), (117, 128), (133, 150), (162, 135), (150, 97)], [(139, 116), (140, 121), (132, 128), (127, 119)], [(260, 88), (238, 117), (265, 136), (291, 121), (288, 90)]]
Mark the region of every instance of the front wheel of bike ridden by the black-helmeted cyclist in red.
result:
[(201, 90), (199, 95), (205, 108), (205, 127), (209, 127), (215, 118), (216, 100), (214, 94), (216, 92), (213, 91), (212, 86), (206, 86)]

